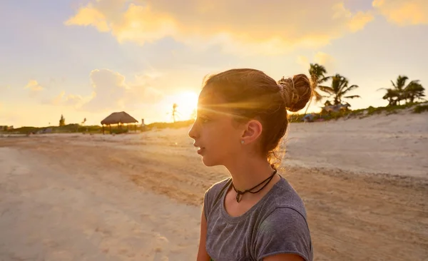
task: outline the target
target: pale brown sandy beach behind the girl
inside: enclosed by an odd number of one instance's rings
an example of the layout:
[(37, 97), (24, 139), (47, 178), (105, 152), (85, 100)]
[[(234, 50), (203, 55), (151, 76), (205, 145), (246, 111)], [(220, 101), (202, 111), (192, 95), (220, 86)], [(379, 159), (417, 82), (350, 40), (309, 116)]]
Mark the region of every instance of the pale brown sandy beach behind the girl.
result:
[[(0, 260), (195, 260), (228, 173), (187, 131), (0, 138)], [(428, 260), (428, 113), (292, 123), (286, 142), (315, 260)]]

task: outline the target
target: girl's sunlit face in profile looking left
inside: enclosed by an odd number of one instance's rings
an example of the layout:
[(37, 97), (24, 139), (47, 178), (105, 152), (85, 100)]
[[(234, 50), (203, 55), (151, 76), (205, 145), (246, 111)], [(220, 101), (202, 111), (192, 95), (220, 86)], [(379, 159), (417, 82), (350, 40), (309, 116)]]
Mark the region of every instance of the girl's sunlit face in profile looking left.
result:
[(240, 152), (243, 130), (233, 121), (233, 116), (225, 110), (210, 109), (203, 97), (199, 97), (198, 116), (188, 135), (195, 140), (193, 145), (198, 147), (205, 165), (226, 165)]

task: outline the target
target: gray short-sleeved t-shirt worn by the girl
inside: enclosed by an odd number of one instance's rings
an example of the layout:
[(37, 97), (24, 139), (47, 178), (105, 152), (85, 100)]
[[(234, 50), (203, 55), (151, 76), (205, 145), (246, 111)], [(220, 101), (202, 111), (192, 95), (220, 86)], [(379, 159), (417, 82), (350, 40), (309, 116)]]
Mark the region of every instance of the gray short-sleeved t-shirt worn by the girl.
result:
[(292, 253), (313, 260), (305, 205), (296, 191), (280, 179), (253, 208), (239, 217), (225, 210), (230, 178), (215, 183), (204, 197), (206, 250), (212, 260), (263, 260)]

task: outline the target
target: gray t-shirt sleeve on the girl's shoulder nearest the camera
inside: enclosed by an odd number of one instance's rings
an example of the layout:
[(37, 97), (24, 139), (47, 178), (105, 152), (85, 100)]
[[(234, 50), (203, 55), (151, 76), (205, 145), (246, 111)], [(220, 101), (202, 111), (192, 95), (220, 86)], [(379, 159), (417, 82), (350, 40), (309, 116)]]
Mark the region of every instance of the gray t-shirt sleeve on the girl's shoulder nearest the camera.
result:
[(270, 255), (295, 254), (312, 261), (311, 247), (305, 218), (292, 208), (277, 208), (258, 228), (255, 256), (263, 260)]

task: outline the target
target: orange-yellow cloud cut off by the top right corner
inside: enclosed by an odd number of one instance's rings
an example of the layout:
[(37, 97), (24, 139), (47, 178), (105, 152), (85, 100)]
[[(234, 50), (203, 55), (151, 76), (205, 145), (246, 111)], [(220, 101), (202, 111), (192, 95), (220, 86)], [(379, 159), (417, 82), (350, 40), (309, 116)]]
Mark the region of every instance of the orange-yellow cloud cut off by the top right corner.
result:
[(372, 6), (399, 26), (428, 24), (427, 0), (374, 0)]

